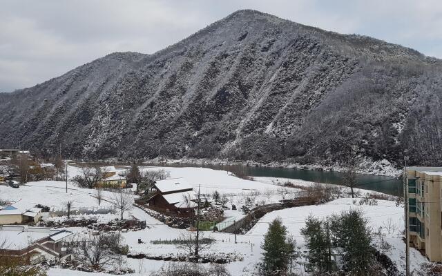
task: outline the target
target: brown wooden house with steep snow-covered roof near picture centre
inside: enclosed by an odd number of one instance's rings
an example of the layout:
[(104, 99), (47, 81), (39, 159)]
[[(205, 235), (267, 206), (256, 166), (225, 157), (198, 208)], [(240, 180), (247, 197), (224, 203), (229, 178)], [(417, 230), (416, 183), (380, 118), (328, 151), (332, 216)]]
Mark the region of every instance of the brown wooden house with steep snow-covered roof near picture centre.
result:
[(197, 204), (196, 193), (183, 178), (156, 181), (155, 195), (149, 199), (149, 207), (166, 215), (192, 217)]

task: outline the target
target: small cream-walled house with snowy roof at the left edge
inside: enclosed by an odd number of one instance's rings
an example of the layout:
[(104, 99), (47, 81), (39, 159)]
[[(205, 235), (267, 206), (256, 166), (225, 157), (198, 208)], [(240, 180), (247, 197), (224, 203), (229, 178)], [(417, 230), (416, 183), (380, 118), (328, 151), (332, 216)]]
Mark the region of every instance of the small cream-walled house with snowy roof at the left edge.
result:
[(4, 206), (0, 210), (0, 225), (37, 223), (41, 217), (41, 208), (25, 201)]

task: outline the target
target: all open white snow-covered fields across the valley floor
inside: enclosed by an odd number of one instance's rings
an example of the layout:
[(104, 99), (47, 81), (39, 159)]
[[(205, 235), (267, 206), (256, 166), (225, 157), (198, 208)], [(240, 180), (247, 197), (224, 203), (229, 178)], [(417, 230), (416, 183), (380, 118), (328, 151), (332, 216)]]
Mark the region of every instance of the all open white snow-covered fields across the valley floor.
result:
[[(256, 202), (264, 201), (265, 203), (275, 202), (281, 199), (278, 193), (277, 182), (284, 182), (286, 179), (272, 179), (269, 177), (259, 177), (256, 181), (250, 181), (235, 177), (230, 172), (212, 170), (209, 168), (171, 168), (171, 167), (148, 167), (142, 170), (168, 170), (171, 177), (184, 177), (193, 188), (201, 189), (201, 193), (211, 194), (215, 190), (222, 195), (227, 195), (229, 204), (237, 204), (241, 206), (244, 203), (244, 197), (252, 195), (252, 193), (259, 192), (256, 195)], [(123, 170), (123, 169), (119, 169)], [(69, 166), (69, 177), (79, 174), (79, 169), (74, 166)], [(301, 186), (309, 186), (312, 183), (309, 181), (302, 181), (296, 179), (289, 179), (294, 184)], [(298, 189), (291, 189), (296, 192)], [(265, 195), (267, 192), (268, 195)], [(361, 192), (367, 192), (366, 190)], [(39, 181), (30, 182), (27, 185), (20, 186), (20, 188), (10, 188), (8, 186), (0, 186), (0, 199), (8, 200), (27, 200), (34, 204), (43, 204), (51, 208), (64, 208), (64, 204), (69, 199), (75, 201), (74, 207), (77, 208), (96, 208), (98, 202), (94, 195), (94, 190), (78, 188), (73, 184), (68, 185), (68, 193), (66, 193), (66, 184), (63, 181)], [(111, 198), (111, 192), (106, 192), (105, 198)], [(229, 205), (228, 204), (228, 205)], [(110, 202), (102, 201), (102, 206), (111, 207)], [(284, 210), (277, 210), (268, 213), (262, 217), (258, 223), (249, 230), (245, 235), (238, 235), (237, 243), (235, 243), (234, 236), (228, 233), (211, 233), (206, 232), (204, 237), (211, 237), (216, 240), (215, 244), (207, 253), (232, 253), (238, 256), (239, 261), (227, 264), (231, 275), (255, 275), (255, 266), (260, 262), (262, 250), (260, 244), (262, 243), (267, 227), (270, 221), (276, 217), (281, 217), (285, 226), (289, 230), (289, 234), (296, 238), (298, 246), (302, 248), (304, 241), (300, 235), (300, 229), (304, 226), (305, 218), (309, 215), (316, 217), (327, 217), (334, 213), (338, 214), (343, 210), (350, 208), (358, 208), (365, 213), (369, 219), (369, 226), (374, 231), (381, 228), (381, 233), (385, 236), (387, 242), (392, 244), (390, 250), (392, 259), (396, 262), (398, 268), (403, 270), (405, 252), (405, 244), (401, 240), (401, 230), (403, 230), (403, 208), (396, 206), (394, 201), (378, 200), (378, 205), (359, 205), (359, 199), (341, 198), (331, 201), (327, 204), (317, 206), (303, 206), (296, 208), (287, 208)], [(112, 216), (117, 217), (117, 214), (103, 215), (103, 219), (112, 219)], [(122, 233), (124, 244), (128, 244), (131, 253), (147, 253), (153, 255), (173, 255), (185, 254), (183, 250), (177, 249), (169, 244), (151, 244), (152, 240), (157, 239), (175, 239), (180, 237), (183, 233), (189, 233), (187, 230), (180, 230), (170, 228), (162, 224), (157, 219), (144, 213), (140, 208), (133, 208), (126, 214), (127, 217), (133, 216), (140, 220), (145, 220), (148, 228), (139, 231), (129, 231)], [(240, 219), (242, 213), (240, 211), (227, 210), (227, 220)], [(395, 230), (387, 232), (385, 226), (387, 224), (394, 224)], [(77, 235), (84, 235), (87, 233), (87, 228), (69, 228)], [(142, 239), (142, 244), (138, 244), (138, 239)], [(376, 239), (374, 244), (376, 244)], [(390, 255), (387, 253), (387, 255)], [(202, 252), (204, 254), (204, 251)], [(130, 266), (137, 273), (135, 275), (149, 275), (151, 271), (158, 270), (162, 266), (167, 266), (168, 262), (155, 261), (149, 259), (125, 259), (126, 266)], [(412, 249), (412, 264), (414, 269), (419, 268), (419, 264), (425, 262), (425, 258), (421, 254)], [(141, 274), (138, 271), (141, 268)], [(300, 266), (297, 268), (300, 270)], [(61, 268), (50, 268), (48, 271), (50, 276), (71, 276), (71, 275), (89, 275), (101, 276), (104, 273), (82, 273), (74, 270), (65, 270)]]

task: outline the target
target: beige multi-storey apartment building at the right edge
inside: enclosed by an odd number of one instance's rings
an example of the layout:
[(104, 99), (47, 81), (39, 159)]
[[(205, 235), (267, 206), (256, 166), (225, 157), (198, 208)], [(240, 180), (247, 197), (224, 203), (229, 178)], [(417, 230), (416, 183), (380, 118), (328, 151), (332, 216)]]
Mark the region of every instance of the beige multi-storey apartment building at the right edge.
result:
[(425, 250), (430, 261), (442, 262), (442, 167), (409, 167), (405, 173), (410, 246)]

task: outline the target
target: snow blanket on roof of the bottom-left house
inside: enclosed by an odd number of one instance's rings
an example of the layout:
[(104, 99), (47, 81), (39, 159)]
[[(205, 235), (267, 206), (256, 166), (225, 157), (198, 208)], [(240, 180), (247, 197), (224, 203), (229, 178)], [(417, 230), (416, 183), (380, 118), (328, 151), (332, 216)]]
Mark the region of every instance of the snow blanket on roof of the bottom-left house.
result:
[(4, 249), (19, 250), (30, 246), (32, 243), (45, 237), (50, 237), (54, 242), (64, 239), (72, 233), (66, 230), (57, 230), (44, 227), (28, 226), (1, 226), (0, 236), (6, 239)]

